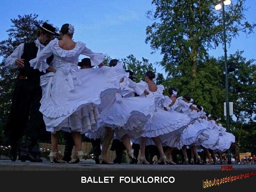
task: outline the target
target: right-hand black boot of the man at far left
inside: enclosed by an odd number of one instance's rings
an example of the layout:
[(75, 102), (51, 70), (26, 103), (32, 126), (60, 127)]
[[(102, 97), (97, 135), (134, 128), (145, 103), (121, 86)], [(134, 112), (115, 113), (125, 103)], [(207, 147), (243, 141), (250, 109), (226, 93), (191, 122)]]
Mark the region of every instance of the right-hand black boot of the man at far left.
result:
[(36, 144), (37, 139), (28, 137), (26, 142), (21, 147), (20, 160), (22, 162), (30, 161), (30, 162), (43, 162), (42, 159), (35, 157), (32, 154), (32, 148)]

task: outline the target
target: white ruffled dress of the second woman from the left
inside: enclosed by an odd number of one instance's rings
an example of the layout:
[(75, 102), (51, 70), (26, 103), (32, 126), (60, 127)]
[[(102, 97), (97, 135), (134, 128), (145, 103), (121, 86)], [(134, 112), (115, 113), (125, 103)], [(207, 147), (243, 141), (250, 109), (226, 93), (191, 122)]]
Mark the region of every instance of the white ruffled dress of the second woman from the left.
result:
[[(114, 68), (119, 68), (118, 63)], [(122, 68), (123, 70), (123, 68)], [(146, 97), (134, 97), (134, 93), (142, 94), (144, 90), (128, 77), (120, 82), (120, 91), (100, 113), (97, 121), (97, 132), (86, 134), (96, 139), (106, 135), (106, 128), (115, 130), (115, 138), (121, 139), (125, 134), (130, 138), (139, 138), (144, 132), (145, 123), (153, 116), (155, 111), (154, 100)]]

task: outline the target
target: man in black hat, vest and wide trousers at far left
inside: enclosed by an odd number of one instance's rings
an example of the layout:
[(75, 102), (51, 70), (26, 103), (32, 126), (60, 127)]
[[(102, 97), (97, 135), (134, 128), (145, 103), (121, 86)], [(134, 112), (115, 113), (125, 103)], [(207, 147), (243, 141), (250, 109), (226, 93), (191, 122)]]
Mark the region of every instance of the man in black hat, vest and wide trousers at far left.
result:
[[(5, 60), (8, 68), (18, 68), (19, 71), (11, 111), (5, 125), (5, 136), (11, 145), (12, 161), (16, 161), (17, 158), (18, 140), (26, 134), (27, 140), (21, 148), (20, 160), (42, 162), (42, 159), (32, 154), (32, 148), (36, 145), (37, 139), (47, 135), (43, 115), (39, 112), (42, 98), (40, 76), (44, 73), (32, 68), (29, 61), (37, 57), (54, 35), (59, 36), (59, 34), (55, 32), (56, 28), (48, 23), (38, 27), (38, 38), (34, 42), (20, 44)], [(53, 55), (47, 58), (46, 62), (49, 64), (52, 59)]]

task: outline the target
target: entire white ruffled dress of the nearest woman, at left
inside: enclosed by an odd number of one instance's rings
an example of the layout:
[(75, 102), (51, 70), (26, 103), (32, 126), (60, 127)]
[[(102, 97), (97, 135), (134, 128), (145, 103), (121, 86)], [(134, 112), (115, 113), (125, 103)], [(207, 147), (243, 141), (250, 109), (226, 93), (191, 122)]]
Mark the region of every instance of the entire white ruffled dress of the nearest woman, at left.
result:
[(52, 54), (52, 67), (56, 73), (41, 76), (43, 95), (40, 111), (47, 131), (94, 132), (100, 113), (98, 110), (103, 108), (101, 103), (113, 100), (120, 78), (127, 73), (120, 74), (108, 66), (78, 69), (80, 54), (89, 56), (92, 66), (103, 61), (103, 54), (92, 52), (82, 42), (77, 42), (72, 50), (64, 50), (59, 47), (58, 39), (52, 40), (37, 58), (30, 61), (30, 65), (40, 71), (46, 70), (49, 65), (44, 60)]

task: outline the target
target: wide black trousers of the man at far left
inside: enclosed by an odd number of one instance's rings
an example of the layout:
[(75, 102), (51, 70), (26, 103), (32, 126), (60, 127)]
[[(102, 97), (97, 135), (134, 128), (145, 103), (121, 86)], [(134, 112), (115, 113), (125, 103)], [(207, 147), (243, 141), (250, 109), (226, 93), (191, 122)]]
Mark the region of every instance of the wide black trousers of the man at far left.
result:
[(10, 145), (17, 144), (25, 134), (35, 139), (50, 140), (43, 114), (39, 111), (41, 98), (42, 89), (38, 80), (17, 80), (5, 125), (5, 137)]

